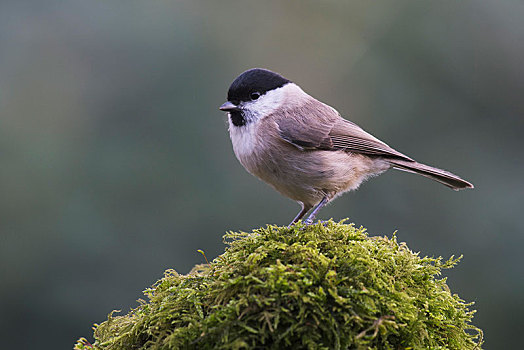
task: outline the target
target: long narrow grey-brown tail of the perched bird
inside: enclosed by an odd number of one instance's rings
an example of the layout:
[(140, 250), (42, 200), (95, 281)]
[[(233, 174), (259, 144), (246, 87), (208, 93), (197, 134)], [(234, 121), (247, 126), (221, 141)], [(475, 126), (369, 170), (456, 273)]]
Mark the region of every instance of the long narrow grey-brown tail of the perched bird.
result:
[(464, 179), (461, 179), (455, 174), (450, 173), (449, 171), (433, 168), (429, 165), (417, 163), (415, 161), (402, 160), (402, 159), (388, 159), (391, 165), (399, 170), (404, 170), (410, 173), (420, 174), (422, 176), (428, 177), (432, 180), (440, 182), (443, 185), (446, 185), (455, 191), (464, 189), (464, 188), (473, 188), (473, 184), (467, 182)]

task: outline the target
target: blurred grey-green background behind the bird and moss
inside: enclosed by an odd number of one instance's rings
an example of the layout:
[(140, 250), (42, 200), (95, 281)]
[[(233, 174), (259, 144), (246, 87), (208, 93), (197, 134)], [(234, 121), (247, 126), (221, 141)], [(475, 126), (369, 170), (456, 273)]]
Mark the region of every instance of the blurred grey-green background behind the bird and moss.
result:
[(227, 230), (299, 206), (235, 159), (218, 110), (265, 67), (411, 157), (325, 208), (398, 230), (475, 301), (486, 349), (524, 327), (524, 2), (16, 1), (0, 4), (0, 339), (68, 349)]

